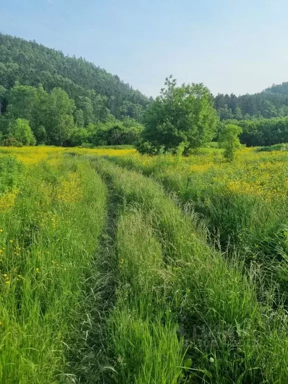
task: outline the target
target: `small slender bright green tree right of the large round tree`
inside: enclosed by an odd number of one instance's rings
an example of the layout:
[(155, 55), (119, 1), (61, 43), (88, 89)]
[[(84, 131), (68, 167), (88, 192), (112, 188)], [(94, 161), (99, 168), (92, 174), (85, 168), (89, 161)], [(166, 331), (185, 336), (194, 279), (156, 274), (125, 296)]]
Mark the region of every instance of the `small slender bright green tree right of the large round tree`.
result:
[(239, 134), (242, 128), (235, 124), (224, 124), (219, 134), (219, 145), (224, 149), (224, 157), (232, 161), (236, 150), (241, 146)]

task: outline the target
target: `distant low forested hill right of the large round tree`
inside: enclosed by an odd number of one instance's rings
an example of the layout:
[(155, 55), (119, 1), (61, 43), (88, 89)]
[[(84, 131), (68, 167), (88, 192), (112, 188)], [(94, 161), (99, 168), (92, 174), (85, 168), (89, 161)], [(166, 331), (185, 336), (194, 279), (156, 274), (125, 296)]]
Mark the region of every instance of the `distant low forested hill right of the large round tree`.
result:
[(236, 96), (218, 93), (214, 105), (221, 120), (253, 117), (270, 118), (288, 115), (288, 82), (266, 88), (262, 92)]

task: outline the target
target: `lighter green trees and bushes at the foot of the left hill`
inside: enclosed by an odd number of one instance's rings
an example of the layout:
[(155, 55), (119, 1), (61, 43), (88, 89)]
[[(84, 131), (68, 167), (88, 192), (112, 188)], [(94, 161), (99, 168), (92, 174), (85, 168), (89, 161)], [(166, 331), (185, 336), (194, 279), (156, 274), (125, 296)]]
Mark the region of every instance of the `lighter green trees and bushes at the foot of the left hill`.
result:
[[(143, 126), (131, 117), (117, 120), (106, 113), (95, 121), (87, 103), (85, 113), (61, 88), (47, 92), (38, 87), (0, 86), (0, 140), (3, 145), (115, 145), (133, 144)], [(93, 122), (92, 122), (93, 121)]]

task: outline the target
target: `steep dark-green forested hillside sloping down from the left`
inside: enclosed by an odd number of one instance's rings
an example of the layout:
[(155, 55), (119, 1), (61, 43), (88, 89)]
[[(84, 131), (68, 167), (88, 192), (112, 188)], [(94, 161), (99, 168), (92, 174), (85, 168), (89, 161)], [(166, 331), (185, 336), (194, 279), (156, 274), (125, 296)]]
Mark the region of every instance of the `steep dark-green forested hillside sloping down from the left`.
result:
[(15, 84), (37, 87), (39, 83), (46, 91), (54, 87), (65, 90), (84, 114), (92, 108), (94, 121), (105, 120), (107, 112), (118, 119), (140, 120), (149, 102), (117, 75), (83, 58), (0, 33), (0, 84), (9, 90)]

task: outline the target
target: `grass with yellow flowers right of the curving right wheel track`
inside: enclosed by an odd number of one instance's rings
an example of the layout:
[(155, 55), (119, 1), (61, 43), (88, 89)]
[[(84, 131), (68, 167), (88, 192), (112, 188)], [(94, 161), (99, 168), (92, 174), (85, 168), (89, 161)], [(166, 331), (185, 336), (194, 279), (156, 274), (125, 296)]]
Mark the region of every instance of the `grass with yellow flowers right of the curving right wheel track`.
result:
[(287, 167), (285, 152), (239, 151), (225, 163), (219, 150), (187, 159), (162, 155), (110, 156), (140, 170), (190, 202), (223, 249), (236, 248), (247, 260), (263, 263), (287, 252)]

